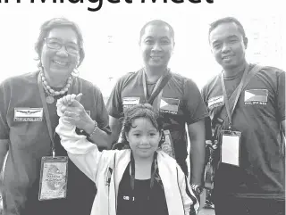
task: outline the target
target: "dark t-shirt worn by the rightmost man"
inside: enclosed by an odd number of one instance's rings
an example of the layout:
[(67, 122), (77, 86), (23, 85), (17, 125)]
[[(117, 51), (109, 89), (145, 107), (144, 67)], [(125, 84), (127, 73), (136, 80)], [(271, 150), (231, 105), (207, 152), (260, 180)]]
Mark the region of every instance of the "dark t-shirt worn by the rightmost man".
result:
[[(250, 65), (249, 70), (253, 67)], [(228, 97), (240, 84), (241, 76), (224, 79)], [(224, 105), (219, 75), (203, 88), (202, 95), (215, 128), (216, 115)], [(265, 67), (241, 92), (232, 114), (232, 130), (242, 133), (240, 167), (220, 164), (214, 178), (217, 193), (250, 198), (285, 197), (282, 120), (285, 120), (285, 72)]]

